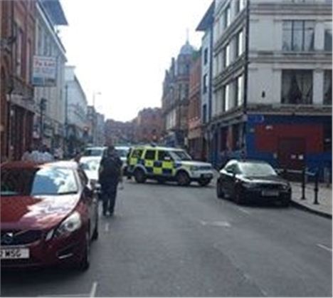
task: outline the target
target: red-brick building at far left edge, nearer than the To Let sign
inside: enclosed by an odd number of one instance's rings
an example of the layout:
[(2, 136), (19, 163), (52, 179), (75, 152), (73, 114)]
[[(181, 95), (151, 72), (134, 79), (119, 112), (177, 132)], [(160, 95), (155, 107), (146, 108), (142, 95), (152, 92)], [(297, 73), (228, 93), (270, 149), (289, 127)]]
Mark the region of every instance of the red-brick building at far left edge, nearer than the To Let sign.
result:
[(35, 18), (34, 0), (1, 1), (1, 160), (31, 145)]

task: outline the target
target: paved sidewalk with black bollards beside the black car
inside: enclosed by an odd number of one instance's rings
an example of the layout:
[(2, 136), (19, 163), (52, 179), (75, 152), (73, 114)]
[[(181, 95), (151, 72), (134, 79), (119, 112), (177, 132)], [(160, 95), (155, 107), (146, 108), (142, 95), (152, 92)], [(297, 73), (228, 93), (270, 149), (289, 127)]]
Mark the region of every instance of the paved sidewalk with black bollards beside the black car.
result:
[(308, 183), (305, 187), (305, 200), (302, 197), (301, 183), (290, 183), (292, 185), (292, 203), (310, 212), (317, 213), (324, 217), (332, 218), (332, 185), (319, 184), (318, 202), (314, 205), (314, 183)]

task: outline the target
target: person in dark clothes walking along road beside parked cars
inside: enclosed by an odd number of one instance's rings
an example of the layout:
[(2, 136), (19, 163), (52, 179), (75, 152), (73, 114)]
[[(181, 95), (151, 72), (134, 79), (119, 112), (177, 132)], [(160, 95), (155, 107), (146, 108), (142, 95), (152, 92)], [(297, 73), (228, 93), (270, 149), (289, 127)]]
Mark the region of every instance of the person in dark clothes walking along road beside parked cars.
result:
[(113, 146), (109, 146), (100, 161), (100, 185), (102, 187), (103, 215), (113, 215), (118, 183), (122, 180), (122, 160)]

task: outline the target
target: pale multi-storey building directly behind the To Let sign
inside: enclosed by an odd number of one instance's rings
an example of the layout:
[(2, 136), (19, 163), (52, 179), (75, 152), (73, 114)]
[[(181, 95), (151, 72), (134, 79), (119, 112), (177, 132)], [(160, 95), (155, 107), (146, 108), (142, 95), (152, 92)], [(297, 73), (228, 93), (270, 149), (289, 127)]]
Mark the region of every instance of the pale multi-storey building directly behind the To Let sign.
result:
[[(58, 26), (67, 25), (58, 0), (36, 1), (35, 55), (56, 58), (56, 83), (34, 88), (35, 118), (33, 138), (51, 150), (63, 147), (65, 138), (65, 48), (58, 36)], [(41, 118), (42, 115), (42, 118)]]

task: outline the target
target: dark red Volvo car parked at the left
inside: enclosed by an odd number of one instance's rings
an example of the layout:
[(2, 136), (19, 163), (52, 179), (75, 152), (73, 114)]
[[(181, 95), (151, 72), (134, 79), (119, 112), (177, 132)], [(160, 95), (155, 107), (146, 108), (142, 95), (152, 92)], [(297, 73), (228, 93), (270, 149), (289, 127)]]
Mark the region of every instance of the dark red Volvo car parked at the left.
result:
[(95, 190), (74, 162), (1, 165), (1, 268), (88, 269), (98, 237)]

